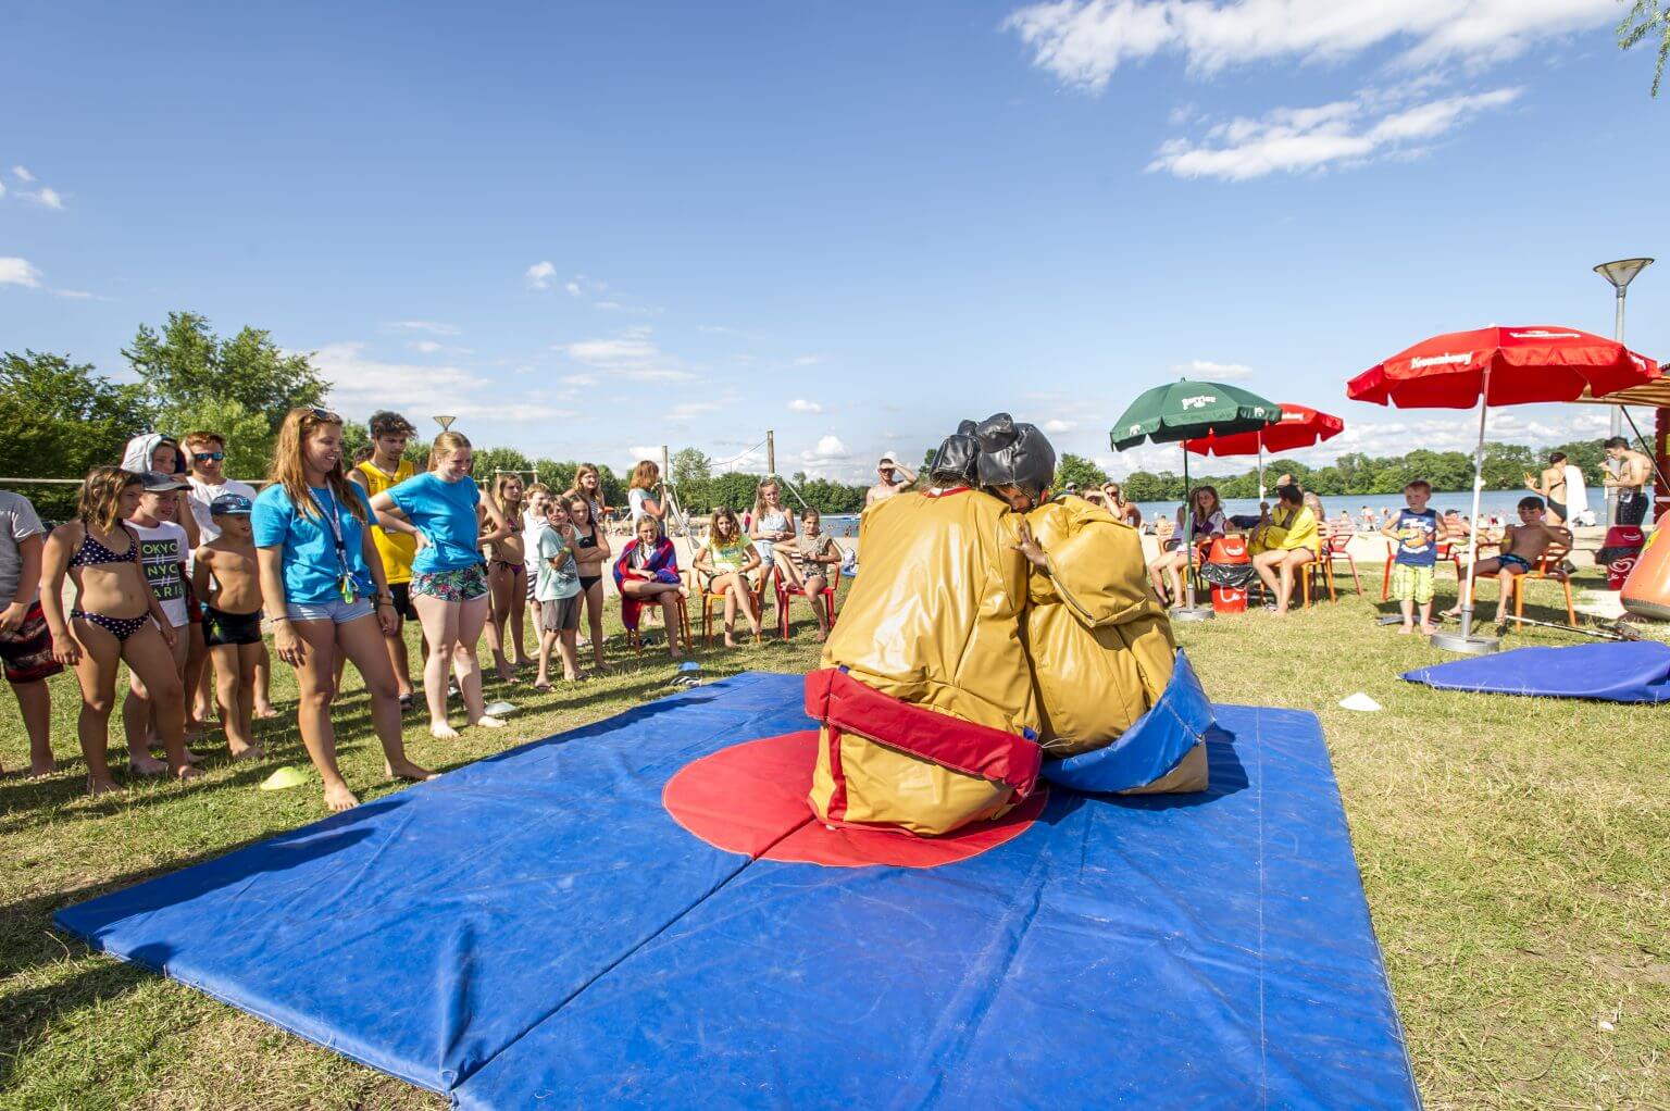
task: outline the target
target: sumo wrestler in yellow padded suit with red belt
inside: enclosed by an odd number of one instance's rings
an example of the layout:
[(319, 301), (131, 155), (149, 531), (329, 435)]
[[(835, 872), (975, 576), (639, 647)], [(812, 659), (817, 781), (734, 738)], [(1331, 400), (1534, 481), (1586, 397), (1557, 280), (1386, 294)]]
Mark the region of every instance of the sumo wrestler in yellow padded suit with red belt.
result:
[(863, 513), (863, 575), (823, 667), (807, 675), (807, 713), (822, 722), (808, 802), (830, 825), (947, 834), (1037, 785), (1040, 722), (1020, 640), (1027, 561), (1020, 518), (975, 486), (985, 444), (1024, 444), (1012, 454), (1030, 476), (1012, 478), (1034, 491), (1054, 473), (1035, 428), (1007, 414), (965, 421), (924, 493)]

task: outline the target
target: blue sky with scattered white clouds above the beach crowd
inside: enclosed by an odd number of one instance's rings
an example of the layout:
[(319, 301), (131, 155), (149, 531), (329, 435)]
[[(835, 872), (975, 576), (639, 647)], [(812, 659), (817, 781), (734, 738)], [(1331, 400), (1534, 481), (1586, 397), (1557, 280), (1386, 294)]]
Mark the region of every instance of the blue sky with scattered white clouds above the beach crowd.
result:
[[(0, 348), (107, 373), (170, 309), (476, 443), (862, 479), (1009, 409), (1107, 428), (1187, 373), (1344, 399), (1435, 332), (1610, 334), (1660, 256), (1670, 97), (1613, 0), (33, 5), (0, 40)], [(17, 169), (22, 167), (22, 169)], [(1192, 368), (1192, 369), (1191, 369)], [(1493, 436), (1605, 413), (1493, 411)], [(763, 453), (741, 466), (763, 466)], [(1239, 469), (1237, 461), (1219, 469)]]

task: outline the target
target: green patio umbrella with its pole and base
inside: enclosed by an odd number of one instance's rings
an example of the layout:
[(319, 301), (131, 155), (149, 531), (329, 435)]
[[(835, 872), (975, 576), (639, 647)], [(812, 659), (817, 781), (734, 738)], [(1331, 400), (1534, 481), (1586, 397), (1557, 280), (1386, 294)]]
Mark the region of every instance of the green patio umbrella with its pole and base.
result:
[[(1281, 406), (1254, 393), (1222, 383), (1196, 383), (1187, 378), (1166, 383), (1146, 391), (1131, 403), (1121, 416), (1109, 441), (1114, 451), (1136, 448), (1144, 439), (1154, 443), (1182, 443), (1201, 436), (1232, 436), (1236, 433), (1252, 433), (1266, 424), (1281, 419)], [(1194, 500), (1189, 488), (1189, 453), (1182, 453), (1182, 505), (1184, 505), (1184, 551), (1191, 551), (1194, 540)], [(1186, 605), (1174, 608), (1172, 616), (1191, 620), (1211, 616), (1211, 608), (1196, 608), (1194, 578), (1182, 576), (1186, 588)]]

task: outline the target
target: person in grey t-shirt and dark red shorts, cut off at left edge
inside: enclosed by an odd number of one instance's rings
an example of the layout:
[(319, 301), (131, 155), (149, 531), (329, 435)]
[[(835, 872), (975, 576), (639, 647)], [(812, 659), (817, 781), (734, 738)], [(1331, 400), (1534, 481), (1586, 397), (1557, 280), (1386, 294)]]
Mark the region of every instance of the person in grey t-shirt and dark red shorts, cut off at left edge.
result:
[(63, 670), (52, 658), (52, 633), (40, 611), (45, 531), (28, 498), (0, 491), (0, 662), (28, 732), (30, 775), (53, 770), (47, 680)]

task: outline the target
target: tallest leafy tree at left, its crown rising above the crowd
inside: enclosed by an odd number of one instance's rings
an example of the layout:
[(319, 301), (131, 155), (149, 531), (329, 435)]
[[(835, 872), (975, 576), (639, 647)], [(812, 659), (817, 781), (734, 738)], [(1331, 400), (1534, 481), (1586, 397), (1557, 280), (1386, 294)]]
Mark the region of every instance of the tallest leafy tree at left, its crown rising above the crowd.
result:
[(160, 331), (140, 324), (122, 354), (150, 389), (154, 426), (175, 433), (179, 416), (210, 401), (237, 401), (277, 433), (287, 411), (321, 404), (327, 389), (307, 356), (279, 351), (269, 332), (245, 326), (222, 339), (197, 312), (169, 312)]

